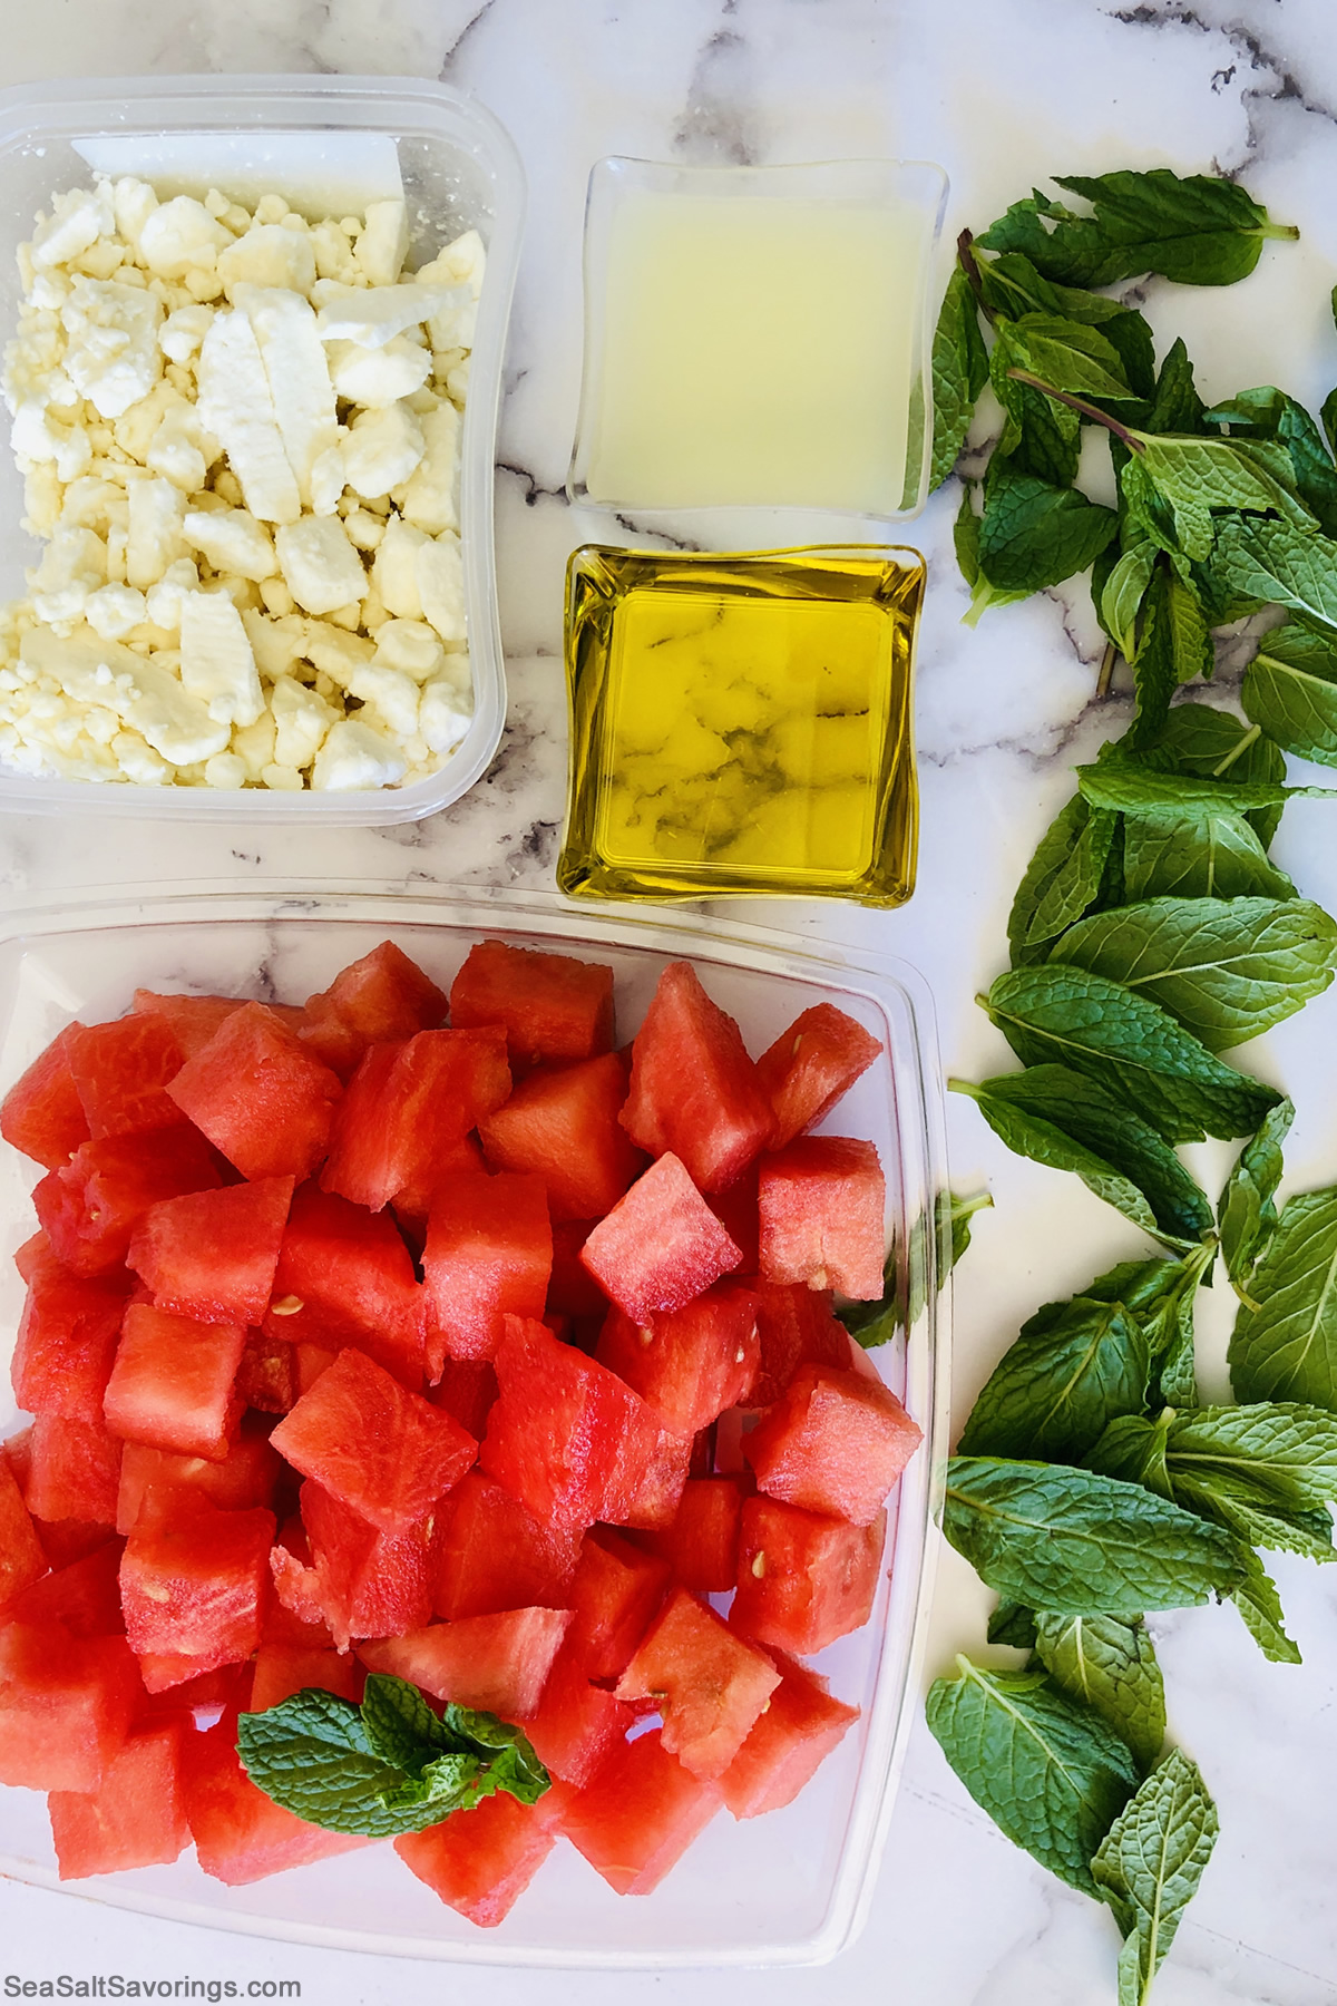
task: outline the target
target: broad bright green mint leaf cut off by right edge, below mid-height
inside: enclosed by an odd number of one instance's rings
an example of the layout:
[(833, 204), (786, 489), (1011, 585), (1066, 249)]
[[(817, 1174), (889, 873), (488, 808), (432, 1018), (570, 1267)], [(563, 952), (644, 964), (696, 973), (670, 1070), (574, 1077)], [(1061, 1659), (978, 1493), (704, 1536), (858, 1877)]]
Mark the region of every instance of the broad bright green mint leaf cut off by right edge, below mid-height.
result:
[(1231, 1334), (1235, 1398), (1337, 1408), (1337, 1188), (1281, 1208)]

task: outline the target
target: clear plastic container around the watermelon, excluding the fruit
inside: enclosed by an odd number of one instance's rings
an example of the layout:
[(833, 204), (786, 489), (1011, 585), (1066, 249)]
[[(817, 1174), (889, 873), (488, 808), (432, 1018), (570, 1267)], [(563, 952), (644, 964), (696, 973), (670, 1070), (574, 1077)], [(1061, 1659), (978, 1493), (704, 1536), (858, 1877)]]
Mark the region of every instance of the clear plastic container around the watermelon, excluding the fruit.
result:
[[(796, 1803), (736, 1823), (720, 1811), (647, 1898), (615, 1896), (559, 1842), (497, 1930), (477, 1930), (417, 1882), (389, 1846), (279, 1874), (251, 1888), (208, 1880), (184, 1854), (174, 1866), (64, 1884), (118, 1908), (293, 1942), (479, 1964), (674, 1968), (814, 1964), (862, 1922), (910, 1723), (930, 1599), (930, 1521), (946, 1456), (948, 1308), (936, 1248), (924, 1234), (946, 1182), (942, 1093), (932, 1015), (914, 971), (880, 955), (808, 949), (776, 933), (714, 923), (573, 913), (559, 899), (505, 895), (405, 897), (269, 887), (239, 893), (116, 891), (92, 903), (10, 915), (0, 927), (0, 1091), (72, 1017), (126, 1009), (136, 985), (301, 1001), (357, 955), (397, 941), (449, 985), (485, 937), (609, 963), (617, 1037), (631, 1035), (665, 961), (690, 959), (718, 1003), (762, 1051), (802, 1011), (832, 1001), (864, 1023), (884, 1055), (842, 1101), (830, 1127), (870, 1137), (886, 1167), (888, 1232), (902, 1250), (908, 1336), (870, 1356), (924, 1430), (924, 1446), (892, 1500), (886, 1573), (870, 1623), (816, 1667), (862, 1709)], [(22, 1306), (10, 1254), (30, 1234), (36, 1165), (0, 1147), (0, 1328), (4, 1356)], [(2, 1360), (0, 1360), (2, 1364)], [(0, 1398), (0, 1436), (18, 1414)], [(56, 1882), (42, 1795), (0, 1789), (0, 1874)]]

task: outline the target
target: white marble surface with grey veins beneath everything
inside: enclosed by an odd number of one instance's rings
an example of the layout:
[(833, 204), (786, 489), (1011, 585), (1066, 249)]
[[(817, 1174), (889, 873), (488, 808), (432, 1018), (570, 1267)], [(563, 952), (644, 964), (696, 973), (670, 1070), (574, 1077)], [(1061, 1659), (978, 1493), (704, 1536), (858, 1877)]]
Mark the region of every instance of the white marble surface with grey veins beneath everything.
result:
[[(982, 227), (1050, 171), (1217, 166), (1243, 173), (1299, 247), (1269, 245), (1229, 293), (1151, 287), (1201, 385), (1277, 381), (1311, 405), (1337, 379), (1327, 293), (1337, 267), (1337, 40), (1331, 0), (60, 0), (4, 8), (0, 82), (172, 70), (375, 70), (477, 92), (529, 175), (529, 237), (507, 367), (499, 459), (501, 606), (511, 710), (489, 776), (455, 810), (383, 832), (285, 832), (239, 822), (162, 841), (160, 824), (0, 816), (12, 901), (114, 881), (375, 877), (549, 885), (563, 802), (561, 568), (617, 536), (561, 499), (579, 377), (579, 217), (603, 152), (688, 160), (900, 154), (952, 177), (948, 235)], [(1123, 726), (1092, 700), (1098, 642), (1082, 594), (958, 624), (954, 491), (912, 540), (930, 556), (920, 654), (920, 891), (894, 915), (770, 907), (768, 923), (870, 939), (930, 979), (950, 1071), (1004, 1061), (972, 997), (1002, 965), (1012, 885), (1066, 768)], [(830, 528), (830, 526), (828, 526)], [(1223, 676), (1229, 694), (1229, 670)], [(1277, 845), (1301, 889), (1337, 901), (1331, 808), (1297, 802)], [(1251, 1063), (1299, 1105), (1289, 1188), (1337, 1176), (1331, 1059), (1337, 991), (1255, 1045)], [(996, 1212), (956, 1284), (956, 1412), (1036, 1302), (1066, 1294), (1137, 1236), (1074, 1180), (1008, 1157), (968, 1103), (950, 1109), (960, 1186)], [(1203, 1151), (1217, 1178), (1227, 1151)], [(1203, 1314), (1209, 1386), (1223, 1384), (1229, 1310)], [(1333, 2006), (1337, 1904), (1337, 1597), (1319, 1571), (1277, 1567), (1301, 1669), (1265, 1665), (1231, 1609), (1155, 1621), (1173, 1731), (1201, 1761), (1223, 1837), (1157, 1986), (1161, 2006)], [(978, 1643), (988, 1597), (944, 1555), (930, 1669)], [(1104, 2006), (1115, 1928), (1010, 1848), (920, 1729), (910, 1747), (872, 1920), (836, 1964), (782, 1974), (583, 1976), (445, 1970), (285, 1950), (0, 1886), (4, 1974), (297, 1978), (353, 2006), (451, 1996), (461, 2006)]]

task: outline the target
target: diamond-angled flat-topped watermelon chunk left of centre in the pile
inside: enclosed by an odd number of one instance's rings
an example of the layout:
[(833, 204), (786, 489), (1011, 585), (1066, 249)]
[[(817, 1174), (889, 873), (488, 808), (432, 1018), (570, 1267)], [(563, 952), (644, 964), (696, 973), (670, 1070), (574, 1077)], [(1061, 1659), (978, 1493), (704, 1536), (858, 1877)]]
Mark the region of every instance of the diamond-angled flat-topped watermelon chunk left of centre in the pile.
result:
[(339, 1354), (271, 1440), (381, 1533), (409, 1533), (477, 1458), (451, 1414), (357, 1350)]

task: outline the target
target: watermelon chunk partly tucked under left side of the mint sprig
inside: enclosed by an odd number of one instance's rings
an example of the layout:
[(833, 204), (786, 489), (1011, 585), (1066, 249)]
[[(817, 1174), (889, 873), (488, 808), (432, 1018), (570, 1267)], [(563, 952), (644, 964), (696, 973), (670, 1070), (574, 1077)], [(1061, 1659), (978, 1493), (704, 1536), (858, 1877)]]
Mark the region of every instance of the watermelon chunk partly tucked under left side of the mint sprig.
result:
[(285, 1811), (251, 1781), (237, 1753), (237, 1711), (182, 1743), (180, 1785), (198, 1864), (229, 1888), (331, 1860), (369, 1842)]

